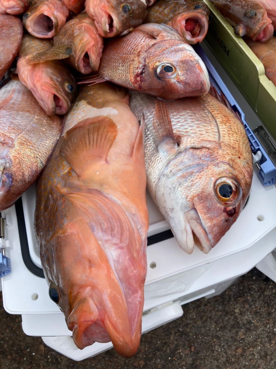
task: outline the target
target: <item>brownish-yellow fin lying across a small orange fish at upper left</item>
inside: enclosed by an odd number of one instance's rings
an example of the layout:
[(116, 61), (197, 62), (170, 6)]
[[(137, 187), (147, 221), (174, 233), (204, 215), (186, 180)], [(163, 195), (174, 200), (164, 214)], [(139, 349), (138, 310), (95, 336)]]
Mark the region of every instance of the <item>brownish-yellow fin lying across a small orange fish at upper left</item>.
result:
[(53, 46), (47, 50), (38, 52), (37, 54), (31, 54), (26, 57), (29, 64), (43, 63), (50, 60), (60, 60), (69, 58), (72, 54), (71, 45), (58, 45)]

